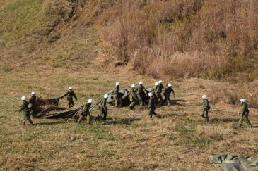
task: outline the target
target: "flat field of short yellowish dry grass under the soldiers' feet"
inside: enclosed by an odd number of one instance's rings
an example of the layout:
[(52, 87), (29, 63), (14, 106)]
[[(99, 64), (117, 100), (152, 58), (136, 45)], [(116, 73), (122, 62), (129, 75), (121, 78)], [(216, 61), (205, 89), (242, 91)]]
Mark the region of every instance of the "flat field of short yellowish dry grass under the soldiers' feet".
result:
[[(62, 119), (33, 119), (35, 127), (20, 125), (20, 96), (29, 96), (30, 91), (54, 98), (71, 85), (78, 95), (78, 107), (89, 98), (98, 101), (117, 80), (122, 89), (139, 80), (152, 87), (156, 81), (134, 72), (93, 68), (90, 65), (83, 72), (1, 70), (2, 170), (220, 170), (209, 164), (211, 153), (257, 153), (257, 127), (235, 127), (239, 106), (211, 104), (211, 123), (200, 117), (206, 87), (224, 84), (200, 79), (174, 81), (176, 103), (158, 108), (160, 119), (149, 118), (146, 110), (138, 108), (108, 106), (107, 122), (93, 121), (89, 126)], [(66, 100), (61, 100), (60, 106), (66, 106)], [(258, 124), (257, 109), (250, 109), (250, 120), (254, 126)]]

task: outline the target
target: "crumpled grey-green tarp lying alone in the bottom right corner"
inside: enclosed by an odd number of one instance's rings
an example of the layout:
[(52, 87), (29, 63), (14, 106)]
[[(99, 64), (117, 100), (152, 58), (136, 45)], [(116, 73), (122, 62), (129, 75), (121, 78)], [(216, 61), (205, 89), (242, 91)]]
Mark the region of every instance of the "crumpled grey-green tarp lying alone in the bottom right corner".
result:
[(228, 154), (211, 154), (210, 163), (225, 171), (258, 170), (258, 156), (231, 156)]

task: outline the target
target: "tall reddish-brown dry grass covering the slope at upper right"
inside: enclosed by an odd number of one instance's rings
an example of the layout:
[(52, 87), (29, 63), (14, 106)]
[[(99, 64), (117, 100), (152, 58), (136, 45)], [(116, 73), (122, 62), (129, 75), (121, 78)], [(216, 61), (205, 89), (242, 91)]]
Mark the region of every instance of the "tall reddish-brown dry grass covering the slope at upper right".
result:
[(127, 0), (98, 22), (105, 48), (142, 74), (219, 78), (255, 72), (257, 14), (257, 1)]

